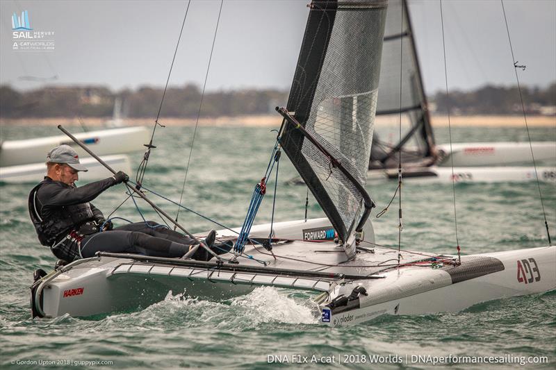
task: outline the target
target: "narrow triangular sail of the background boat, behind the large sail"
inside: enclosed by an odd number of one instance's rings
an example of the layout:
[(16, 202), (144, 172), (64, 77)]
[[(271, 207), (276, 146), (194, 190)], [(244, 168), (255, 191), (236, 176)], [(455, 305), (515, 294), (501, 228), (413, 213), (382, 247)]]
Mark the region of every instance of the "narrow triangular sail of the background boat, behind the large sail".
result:
[[(400, 47), (402, 47), (401, 58)], [(401, 143), (400, 61), (402, 62)], [(398, 167), (400, 148), (402, 162), (425, 164), (427, 158), (432, 157), (434, 137), (416, 55), (411, 19), (405, 0), (388, 2), (379, 91), (377, 106), (379, 117), (375, 126), (369, 168)]]

